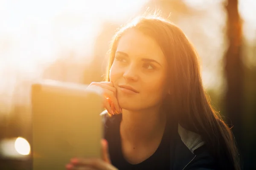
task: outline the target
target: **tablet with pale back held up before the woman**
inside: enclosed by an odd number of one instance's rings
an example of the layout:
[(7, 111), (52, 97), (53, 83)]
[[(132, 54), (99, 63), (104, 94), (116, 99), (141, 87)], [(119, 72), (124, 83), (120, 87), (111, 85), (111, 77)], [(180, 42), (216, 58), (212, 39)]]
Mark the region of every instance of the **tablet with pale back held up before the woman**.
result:
[(64, 170), (74, 157), (101, 157), (102, 91), (43, 80), (31, 88), (33, 170)]

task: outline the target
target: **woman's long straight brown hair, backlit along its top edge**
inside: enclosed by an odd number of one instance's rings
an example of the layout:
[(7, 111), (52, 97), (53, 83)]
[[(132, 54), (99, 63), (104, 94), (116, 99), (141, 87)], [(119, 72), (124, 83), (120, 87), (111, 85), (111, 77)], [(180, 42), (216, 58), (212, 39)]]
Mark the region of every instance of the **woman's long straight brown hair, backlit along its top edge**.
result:
[[(204, 91), (198, 54), (183, 31), (160, 17), (140, 17), (121, 28), (113, 38), (106, 74), (109, 80), (111, 65), (120, 37), (136, 29), (152, 37), (168, 61), (168, 83), (172, 95), (166, 99), (167, 109), (177, 114), (179, 123), (204, 139), (210, 153), (225, 169), (240, 170), (239, 154), (234, 136), (209, 101)], [(171, 107), (170, 107), (171, 106)]]

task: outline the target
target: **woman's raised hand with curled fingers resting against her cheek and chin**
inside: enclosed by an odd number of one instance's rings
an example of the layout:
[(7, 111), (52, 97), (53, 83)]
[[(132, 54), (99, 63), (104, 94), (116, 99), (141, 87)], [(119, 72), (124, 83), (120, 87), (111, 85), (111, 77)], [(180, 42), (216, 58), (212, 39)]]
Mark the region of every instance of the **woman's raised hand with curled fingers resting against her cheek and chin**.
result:
[(103, 107), (106, 108), (109, 114), (121, 113), (122, 109), (116, 98), (116, 88), (113, 82), (92, 82), (87, 88), (93, 88), (98, 86), (103, 89), (103, 95), (105, 97), (103, 101)]

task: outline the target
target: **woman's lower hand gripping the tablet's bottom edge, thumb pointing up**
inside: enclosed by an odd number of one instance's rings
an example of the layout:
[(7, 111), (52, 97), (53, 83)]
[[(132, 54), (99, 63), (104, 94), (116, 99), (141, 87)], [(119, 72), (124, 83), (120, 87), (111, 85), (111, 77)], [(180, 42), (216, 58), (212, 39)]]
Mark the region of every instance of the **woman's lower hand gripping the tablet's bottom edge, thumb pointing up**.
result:
[(117, 170), (108, 155), (108, 142), (102, 139), (102, 159), (74, 158), (66, 166), (67, 170)]

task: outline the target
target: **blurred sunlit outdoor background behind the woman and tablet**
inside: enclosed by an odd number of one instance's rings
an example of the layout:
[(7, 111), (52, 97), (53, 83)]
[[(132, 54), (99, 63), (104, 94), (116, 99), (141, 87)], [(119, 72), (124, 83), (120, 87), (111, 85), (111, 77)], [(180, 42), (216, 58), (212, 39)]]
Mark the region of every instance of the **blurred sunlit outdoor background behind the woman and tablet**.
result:
[(204, 87), (256, 169), (256, 0), (0, 0), (0, 169), (31, 170), (30, 85), (102, 81), (116, 29), (161, 11), (195, 45)]

